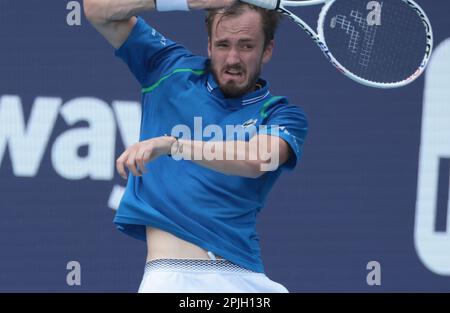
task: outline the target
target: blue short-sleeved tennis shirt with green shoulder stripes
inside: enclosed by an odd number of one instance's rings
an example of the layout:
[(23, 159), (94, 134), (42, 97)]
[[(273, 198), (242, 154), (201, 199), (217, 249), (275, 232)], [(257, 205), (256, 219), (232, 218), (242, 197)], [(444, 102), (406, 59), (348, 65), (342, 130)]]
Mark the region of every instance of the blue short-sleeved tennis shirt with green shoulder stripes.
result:
[[(138, 18), (125, 43), (116, 50), (142, 86), (140, 141), (170, 134), (177, 125), (256, 126), (256, 134), (273, 134), (291, 147), (292, 157), (258, 178), (231, 176), (192, 161), (162, 156), (146, 165), (142, 177), (128, 177), (114, 223), (125, 233), (146, 240), (152, 226), (256, 272), (264, 272), (256, 217), (283, 169), (293, 169), (307, 133), (303, 111), (275, 97), (267, 82), (242, 98), (225, 98), (209, 71), (209, 59), (193, 55)], [(259, 127), (268, 125), (273, 127)], [(205, 131), (205, 133), (207, 133)], [(209, 137), (191, 138), (210, 140)], [(229, 138), (227, 138), (229, 140)]]

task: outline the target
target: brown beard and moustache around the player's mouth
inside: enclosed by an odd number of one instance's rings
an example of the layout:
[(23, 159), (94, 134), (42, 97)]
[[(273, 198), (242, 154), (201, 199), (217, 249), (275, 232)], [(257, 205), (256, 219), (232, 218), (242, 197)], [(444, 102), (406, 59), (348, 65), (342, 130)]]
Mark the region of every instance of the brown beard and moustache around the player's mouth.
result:
[[(218, 70), (216, 66), (214, 66), (214, 62), (212, 60), (210, 64), (210, 70), (217, 84), (219, 84), (220, 91), (226, 98), (239, 98), (244, 96), (246, 93), (253, 91), (255, 89), (256, 82), (258, 81), (261, 74), (261, 68), (259, 68), (255, 73), (253, 73), (253, 75), (251, 75), (247, 79), (247, 82), (245, 82), (244, 84), (238, 84), (233, 80), (222, 83), (220, 81)], [(246, 74), (246, 70), (240, 65), (233, 65), (224, 68), (224, 71), (228, 70), (237, 70), (243, 74)]]

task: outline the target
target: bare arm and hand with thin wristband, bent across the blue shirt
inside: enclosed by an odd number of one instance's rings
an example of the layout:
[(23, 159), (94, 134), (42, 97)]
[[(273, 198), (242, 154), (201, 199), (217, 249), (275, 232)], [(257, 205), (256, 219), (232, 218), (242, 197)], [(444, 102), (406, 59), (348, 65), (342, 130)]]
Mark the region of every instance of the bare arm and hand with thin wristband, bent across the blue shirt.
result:
[(181, 140), (161, 136), (138, 142), (117, 159), (117, 171), (123, 178), (127, 167), (135, 176), (146, 172), (145, 164), (162, 155), (175, 160), (190, 160), (227, 175), (257, 178), (274, 171), (289, 158), (290, 148), (279, 137), (254, 136), (250, 141)]

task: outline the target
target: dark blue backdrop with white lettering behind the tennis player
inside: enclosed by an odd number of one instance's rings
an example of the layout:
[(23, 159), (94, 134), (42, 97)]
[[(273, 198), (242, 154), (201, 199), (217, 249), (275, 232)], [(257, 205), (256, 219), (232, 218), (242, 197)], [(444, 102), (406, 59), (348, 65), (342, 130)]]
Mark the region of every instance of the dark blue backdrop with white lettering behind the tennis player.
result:
[[(135, 292), (145, 245), (112, 218), (139, 85), (84, 16), (68, 25), (68, 2), (0, 2), (0, 291)], [(436, 50), (426, 75), (396, 90), (348, 80), (296, 25), (279, 29), (263, 76), (310, 132), (258, 229), (269, 277), (292, 292), (450, 291), (450, 3), (420, 4)], [(313, 23), (318, 8), (303, 10)], [(199, 54), (203, 16), (144, 15)], [(80, 286), (66, 282), (70, 261)], [(370, 261), (380, 286), (366, 282)]]

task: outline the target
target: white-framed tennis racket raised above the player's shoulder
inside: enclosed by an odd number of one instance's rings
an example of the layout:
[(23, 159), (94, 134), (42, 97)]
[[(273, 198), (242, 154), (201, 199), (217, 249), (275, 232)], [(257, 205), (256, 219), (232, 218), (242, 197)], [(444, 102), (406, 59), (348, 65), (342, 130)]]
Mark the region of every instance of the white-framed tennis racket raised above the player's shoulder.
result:
[[(433, 49), (433, 32), (412, 0), (243, 0), (287, 15), (313, 39), (327, 59), (354, 81), (396, 88), (417, 79)], [(317, 32), (287, 7), (323, 4)]]

